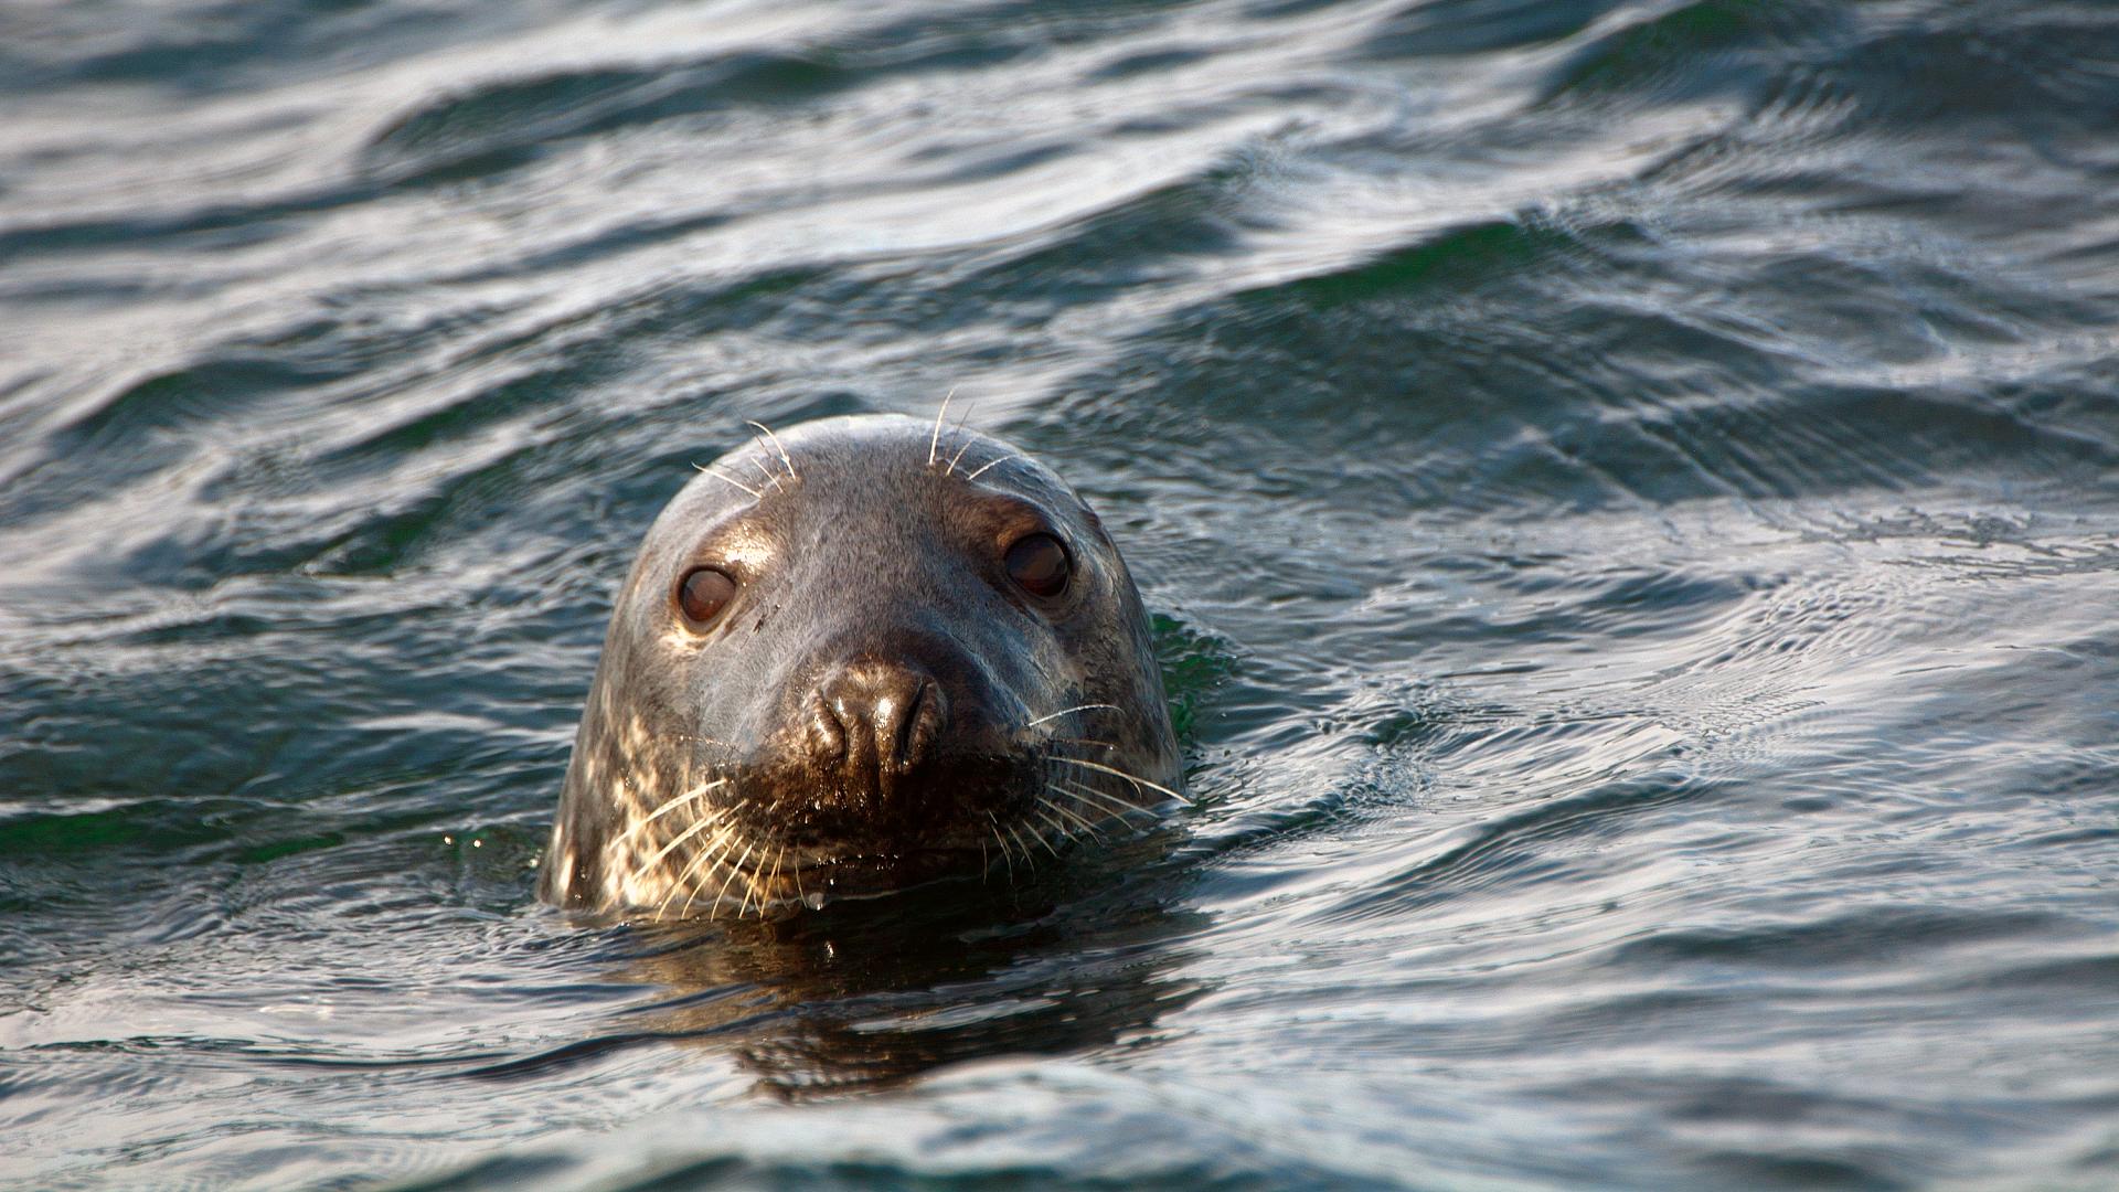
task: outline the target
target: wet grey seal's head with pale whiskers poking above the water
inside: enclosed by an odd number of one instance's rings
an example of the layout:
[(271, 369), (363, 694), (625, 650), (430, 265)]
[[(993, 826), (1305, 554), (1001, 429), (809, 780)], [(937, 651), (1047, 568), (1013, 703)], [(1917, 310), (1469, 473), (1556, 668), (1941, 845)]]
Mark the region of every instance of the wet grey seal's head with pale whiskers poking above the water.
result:
[(1140, 594), (1064, 479), (941, 418), (759, 431), (617, 594), (545, 899), (793, 912), (1013, 876), (1182, 797)]

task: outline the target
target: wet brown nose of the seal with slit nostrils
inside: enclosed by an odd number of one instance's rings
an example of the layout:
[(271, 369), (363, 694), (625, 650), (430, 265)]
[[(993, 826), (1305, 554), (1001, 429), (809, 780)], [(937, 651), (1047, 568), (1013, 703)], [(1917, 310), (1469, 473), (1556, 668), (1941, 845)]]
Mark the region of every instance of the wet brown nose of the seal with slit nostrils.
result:
[(888, 795), (894, 781), (934, 753), (947, 717), (941, 685), (896, 660), (854, 658), (809, 700), (809, 749), (848, 778)]

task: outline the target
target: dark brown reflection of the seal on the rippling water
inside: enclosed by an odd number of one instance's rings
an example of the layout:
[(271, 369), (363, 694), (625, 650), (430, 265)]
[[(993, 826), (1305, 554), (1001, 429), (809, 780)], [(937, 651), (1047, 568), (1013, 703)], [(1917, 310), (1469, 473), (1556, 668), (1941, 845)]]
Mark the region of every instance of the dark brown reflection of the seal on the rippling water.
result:
[(1153, 1039), (1159, 1016), (1204, 991), (1174, 976), (1176, 942), (1204, 916), (1161, 906), (1168, 884), (1127, 880), (1121, 857), (1096, 870), (642, 927), (623, 978), (670, 993), (634, 1010), (642, 1029), (727, 1052), (782, 1099), (987, 1056), (1093, 1054)]

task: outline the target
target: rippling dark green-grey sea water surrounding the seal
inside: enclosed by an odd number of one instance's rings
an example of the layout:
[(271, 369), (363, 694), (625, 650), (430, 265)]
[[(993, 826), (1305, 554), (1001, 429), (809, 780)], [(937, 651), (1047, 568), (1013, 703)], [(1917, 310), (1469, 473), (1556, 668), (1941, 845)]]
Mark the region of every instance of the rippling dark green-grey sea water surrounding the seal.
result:
[[(2119, 1186), (2119, 6), (0, 8), (0, 1179)], [(744, 420), (1051, 460), (1199, 806), (536, 904)]]

